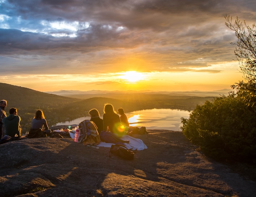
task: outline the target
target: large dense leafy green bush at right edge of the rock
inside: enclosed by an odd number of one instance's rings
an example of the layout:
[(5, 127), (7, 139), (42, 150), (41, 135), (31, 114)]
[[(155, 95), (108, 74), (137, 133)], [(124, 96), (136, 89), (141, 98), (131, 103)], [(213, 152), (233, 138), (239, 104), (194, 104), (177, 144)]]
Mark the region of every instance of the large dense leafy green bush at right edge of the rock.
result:
[(181, 119), (183, 134), (215, 159), (255, 162), (256, 112), (241, 95), (232, 93), (197, 105), (188, 119)]

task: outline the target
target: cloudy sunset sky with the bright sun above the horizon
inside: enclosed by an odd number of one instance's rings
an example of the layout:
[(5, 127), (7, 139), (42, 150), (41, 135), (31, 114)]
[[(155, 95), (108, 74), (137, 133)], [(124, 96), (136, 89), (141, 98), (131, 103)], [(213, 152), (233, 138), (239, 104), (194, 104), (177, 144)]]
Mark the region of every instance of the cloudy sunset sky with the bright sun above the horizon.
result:
[(225, 16), (255, 0), (0, 0), (0, 82), (37, 91), (214, 91), (243, 80)]

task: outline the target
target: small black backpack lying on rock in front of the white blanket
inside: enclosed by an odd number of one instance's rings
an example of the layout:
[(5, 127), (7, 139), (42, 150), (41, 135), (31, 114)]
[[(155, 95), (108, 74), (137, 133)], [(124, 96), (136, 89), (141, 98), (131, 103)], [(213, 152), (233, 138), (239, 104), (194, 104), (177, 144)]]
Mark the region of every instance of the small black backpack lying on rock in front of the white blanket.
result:
[(135, 154), (135, 152), (127, 149), (126, 146), (122, 144), (111, 145), (111, 148), (109, 150), (109, 157), (110, 153), (125, 160), (132, 160)]

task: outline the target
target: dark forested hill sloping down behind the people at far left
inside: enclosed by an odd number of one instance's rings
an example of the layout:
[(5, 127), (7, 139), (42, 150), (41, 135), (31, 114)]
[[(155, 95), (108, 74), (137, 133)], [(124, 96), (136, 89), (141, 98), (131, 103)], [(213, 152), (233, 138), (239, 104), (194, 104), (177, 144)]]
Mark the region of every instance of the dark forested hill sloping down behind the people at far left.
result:
[(44, 111), (50, 126), (63, 118), (58, 115), (58, 110), (71, 106), (71, 103), (81, 101), (81, 99), (53, 95), (6, 83), (0, 83), (0, 89), (0, 100), (7, 101), (6, 114), (9, 115), (10, 108), (18, 109), (18, 115), (21, 117), (22, 133), (31, 127), (31, 121), (36, 110)]

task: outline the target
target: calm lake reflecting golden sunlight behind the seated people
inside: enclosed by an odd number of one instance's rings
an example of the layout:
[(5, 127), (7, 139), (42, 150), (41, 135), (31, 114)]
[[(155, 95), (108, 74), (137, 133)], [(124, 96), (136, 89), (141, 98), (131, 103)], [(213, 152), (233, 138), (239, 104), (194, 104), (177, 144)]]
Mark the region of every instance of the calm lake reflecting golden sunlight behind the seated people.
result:
[[(181, 131), (179, 128), (182, 126), (181, 118), (188, 118), (190, 112), (177, 109), (145, 109), (125, 114), (128, 118), (130, 126), (144, 126), (146, 129)], [(77, 118), (73, 121), (60, 122), (57, 123), (56, 126), (72, 124), (78, 125), (85, 119), (90, 119), (90, 116)]]

